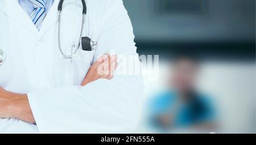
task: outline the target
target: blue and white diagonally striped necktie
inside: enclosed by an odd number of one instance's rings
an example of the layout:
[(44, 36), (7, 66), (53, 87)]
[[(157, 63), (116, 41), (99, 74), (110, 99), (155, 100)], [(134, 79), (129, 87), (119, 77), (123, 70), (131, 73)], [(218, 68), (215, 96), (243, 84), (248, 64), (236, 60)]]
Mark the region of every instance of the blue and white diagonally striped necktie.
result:
[(29, 0), (34, 7), (34, 10), (30, 14), (32, 22), (35, 24), (38, 31), (46, 17), (46, 0)]

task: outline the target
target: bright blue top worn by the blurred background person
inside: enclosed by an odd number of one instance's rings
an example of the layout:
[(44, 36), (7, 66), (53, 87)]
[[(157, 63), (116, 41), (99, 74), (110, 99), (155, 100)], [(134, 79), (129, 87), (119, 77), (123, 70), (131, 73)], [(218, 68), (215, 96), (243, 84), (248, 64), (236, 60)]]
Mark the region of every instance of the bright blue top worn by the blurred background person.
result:
[[(150, 103), (151, 125), (154, 127), (159, 126), (158, 123), (155, 122), (156, 117), (168, 112), (175, 103), (177, 103), (177, 95), (175, 95), (174, 91), (166, 91), (156, 96)], [(209, 97), (197, 94), (193, 96), (192, 101), (180, 106), (172, 126), (190, 126), (200, 122), (212, 121), (215, 117), (216, 114)]]

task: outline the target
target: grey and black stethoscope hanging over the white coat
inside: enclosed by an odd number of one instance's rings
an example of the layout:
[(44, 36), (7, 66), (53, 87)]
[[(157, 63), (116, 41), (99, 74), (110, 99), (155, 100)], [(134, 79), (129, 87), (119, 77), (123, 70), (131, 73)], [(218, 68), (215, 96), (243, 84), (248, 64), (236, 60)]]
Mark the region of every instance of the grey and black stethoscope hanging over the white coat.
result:
[[(60, 40), (60, 22), (61, 22), (61, 11), (62, 11), (62, 6), (63, 6), (64, 0), (60, 0), (59, 5), (58, 5), (58, 11), (59, 11), (59, 19), (58, 19), (58, 45), (59, 45), (59, 50), (60, 53), (63, 55), (64, 59), (71, 59), (73, 57), (73, 54), (77, 52), (77, 50), (81, 48), (82, 50), (85, 51), (92, 51), (93, 46), (97, 45), (96, 41), (92, 41), (89, 37), (82, 37), (82, 32), (84, 30), (84, 24), (85, 24), (85, 15), (86, 15), (86, 3), (84, 0), (81, 0), (82, 2), (82, 26), (81, 26), (81, 32), (80, 32), (80, 37), (79, 41), (77, 42), (77, 45), (73, 44), (71, 48), (71, 54), (67, 55), (63, 52), (63, 49), (61, 48), (61, 40)], [(73, 49), (75, 48), (75, 50)], [(5, 62), (6, 56), (5, 52), (0, 48), (0, 66)]]

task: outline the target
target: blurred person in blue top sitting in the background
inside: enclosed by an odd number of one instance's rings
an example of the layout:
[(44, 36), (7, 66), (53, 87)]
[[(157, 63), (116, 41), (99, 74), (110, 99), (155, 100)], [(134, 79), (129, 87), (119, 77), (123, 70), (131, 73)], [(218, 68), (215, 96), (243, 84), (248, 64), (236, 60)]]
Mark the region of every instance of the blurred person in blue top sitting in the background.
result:
[(212, 101), (195, 87), (200, 70), (192, 55), (175, 57), (169, 77), (170, 87), (150, 101), (151, 125), (161, 130), (186, 129), (213, 131), (216, 113)]

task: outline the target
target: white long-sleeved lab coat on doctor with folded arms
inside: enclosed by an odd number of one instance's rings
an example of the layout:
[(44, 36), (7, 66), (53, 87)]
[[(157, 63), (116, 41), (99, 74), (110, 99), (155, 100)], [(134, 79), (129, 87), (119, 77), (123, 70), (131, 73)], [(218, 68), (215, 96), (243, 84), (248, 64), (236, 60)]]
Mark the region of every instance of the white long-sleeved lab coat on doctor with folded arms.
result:
[[(0, 133), (129, 133), (141, 113), (140, 75), (115, 75), (80, 87), (89, 67), (106, 52), (137, 55), (133, 27), (121, 0), (86, 0), (83, 36), (98, 45), (79, 50), (73, 63), (63, 59), (57, 45), (55, 0), (40, 28), (18, 0), (0, 0), (0, 48), (6, 61), (0, 66), (0, 86), (27, 93), (36, 125), (0, 118)], [(80, 0), (63, 4), (61, 45), (70, 52), (81, 28)]]

